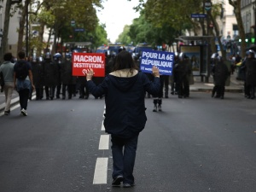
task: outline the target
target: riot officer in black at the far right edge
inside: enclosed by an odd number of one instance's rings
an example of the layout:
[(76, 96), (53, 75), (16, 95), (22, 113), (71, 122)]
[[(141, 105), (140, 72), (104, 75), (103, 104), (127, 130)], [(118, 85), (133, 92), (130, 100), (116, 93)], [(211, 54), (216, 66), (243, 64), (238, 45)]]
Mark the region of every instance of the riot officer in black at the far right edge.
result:
[(246, 70), (246, 84), (247, 89), (249, 90), (248, 99), (255, 98), (255, 86), (256, 86), (256, 59), (255, 52), (252, 49), (247, 50), (247, 60), (245, 63)]

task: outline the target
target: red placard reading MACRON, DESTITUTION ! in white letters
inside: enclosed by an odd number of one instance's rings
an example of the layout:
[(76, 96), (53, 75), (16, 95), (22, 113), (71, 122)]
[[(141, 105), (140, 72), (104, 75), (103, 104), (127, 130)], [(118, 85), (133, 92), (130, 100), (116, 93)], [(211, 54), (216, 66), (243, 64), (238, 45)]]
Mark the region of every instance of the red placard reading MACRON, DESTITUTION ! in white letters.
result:
[(84, 76), (90, 68), (94, 77), (105, 77), (105, 55), (97, 53), (73, 53), (73, 76)]

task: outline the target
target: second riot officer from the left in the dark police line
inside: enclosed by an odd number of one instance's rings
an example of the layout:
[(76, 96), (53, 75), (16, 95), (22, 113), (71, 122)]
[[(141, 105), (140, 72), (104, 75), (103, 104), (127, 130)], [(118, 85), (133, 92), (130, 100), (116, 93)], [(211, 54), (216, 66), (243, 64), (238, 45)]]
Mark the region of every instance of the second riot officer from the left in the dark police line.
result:
[(58, 66), (51, 60), (51, 54), (47, 52), (44, 55), (44, 89), (46, 94), (46, 100), (53, 100), (55, 97), (55, 87), (58, 81)]

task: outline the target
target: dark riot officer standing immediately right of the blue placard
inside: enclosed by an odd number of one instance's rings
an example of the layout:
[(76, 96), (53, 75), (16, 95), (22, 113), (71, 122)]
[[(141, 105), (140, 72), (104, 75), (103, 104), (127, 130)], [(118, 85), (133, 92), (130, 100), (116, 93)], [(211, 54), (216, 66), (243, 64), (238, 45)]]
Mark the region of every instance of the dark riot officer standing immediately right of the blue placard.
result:
[(189, 97), (189, 75), (191, 74), (191, 65), (189, 57), (183, 52), (178, 55), (178, 63), (177, 67), (175, 67), (175, 73), (177, 73), (178, 98)]

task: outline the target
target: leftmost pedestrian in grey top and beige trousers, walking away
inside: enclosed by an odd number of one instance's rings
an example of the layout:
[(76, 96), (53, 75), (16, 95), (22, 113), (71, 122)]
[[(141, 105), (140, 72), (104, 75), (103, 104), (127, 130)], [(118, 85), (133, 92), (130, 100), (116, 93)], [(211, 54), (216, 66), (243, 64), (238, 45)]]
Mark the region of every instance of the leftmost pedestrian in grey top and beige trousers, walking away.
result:
[(14, 92), (14, 67), (15, 63), (11, 62), (13, 55), (6, 53), (3, 55), (3, 64), (0, 66), (0, 73), (3, 74), (3, 92), (5, 96), (5, 108), (4, 114), (9, 115), (10, 113), (10, 102)]

